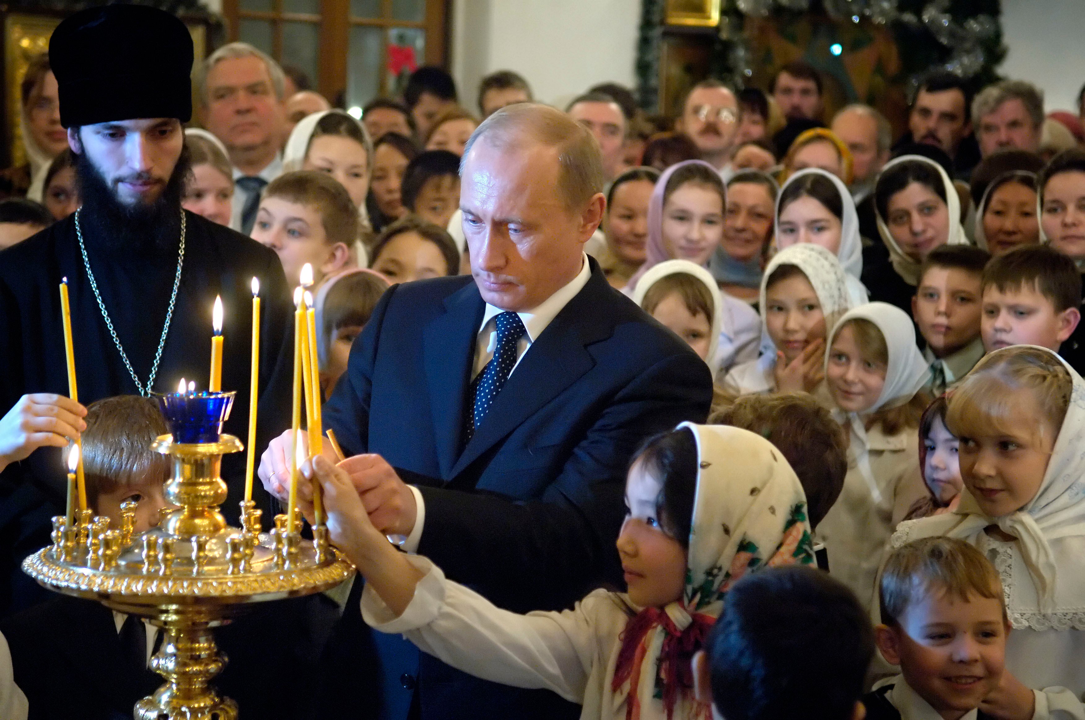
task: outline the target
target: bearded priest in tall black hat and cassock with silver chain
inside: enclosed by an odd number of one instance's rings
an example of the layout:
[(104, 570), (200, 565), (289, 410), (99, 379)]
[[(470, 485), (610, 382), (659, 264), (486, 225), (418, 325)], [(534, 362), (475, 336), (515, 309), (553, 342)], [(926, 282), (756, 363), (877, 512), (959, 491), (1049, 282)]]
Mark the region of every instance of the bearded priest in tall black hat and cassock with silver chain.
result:
[[(82, 207), (0, 253), (0, 615), (39, 596), (17, 563), (48, 544), (49, 518), (63, 513), (60, 449), (85, 429), (85, 406), (173, 391), (182, 376), (206, 389), (216, 296), (227, 313), (222, 388), (239, 391), (226, 430), (244, 437), (254, 277), (264, 300), (259, 416), (268, 428), (289, 416), (291, 305), (279, 258), (181, 209), (181, 124), (192, 115), (184, 24), (144, 5), (85, 10), (53, 33), (50, 62)], [(79, 402), (67, 397), (65, 279)], [(224, 459), (227, 514), (238, 512), (243, 473), (243, 453)]]

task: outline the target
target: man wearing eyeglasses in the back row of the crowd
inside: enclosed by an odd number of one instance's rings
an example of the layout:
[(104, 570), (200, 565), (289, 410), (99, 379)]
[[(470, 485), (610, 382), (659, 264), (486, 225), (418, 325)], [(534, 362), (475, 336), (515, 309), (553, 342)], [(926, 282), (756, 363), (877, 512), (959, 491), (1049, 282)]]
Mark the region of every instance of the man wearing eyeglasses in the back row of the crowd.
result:
[(739, 102), (735, 93), (719, 80), (703, 80), (686, 95), (676, 129), (685, 132), (709, 163), (727, 180), (731, 153), (739, 131)]

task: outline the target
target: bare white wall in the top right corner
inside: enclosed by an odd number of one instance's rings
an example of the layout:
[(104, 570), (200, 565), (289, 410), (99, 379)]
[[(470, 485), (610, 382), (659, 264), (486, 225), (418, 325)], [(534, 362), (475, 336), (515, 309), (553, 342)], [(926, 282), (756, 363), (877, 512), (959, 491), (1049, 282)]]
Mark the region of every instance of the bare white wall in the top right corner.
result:
[(1047, 112), (1076, 114), (1085, 83), (1085, 0), (1003, 0), (1003, 36), (1009, 53), (998, 72), (1044, 90)]

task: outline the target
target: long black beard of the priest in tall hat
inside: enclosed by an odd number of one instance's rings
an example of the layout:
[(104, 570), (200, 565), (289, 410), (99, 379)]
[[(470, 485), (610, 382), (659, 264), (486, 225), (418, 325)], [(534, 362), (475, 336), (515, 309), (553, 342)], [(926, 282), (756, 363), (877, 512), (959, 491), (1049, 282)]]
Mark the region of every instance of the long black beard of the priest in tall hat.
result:
[(82, 208), (79, 221), (88, 242), (110, 253), (176, 253), (181, 233), (181, 197), (192, 172), (189, 146), (181, 147), (174, 172), (151, 203), (124, 205), (87, 156), (75, 156)]

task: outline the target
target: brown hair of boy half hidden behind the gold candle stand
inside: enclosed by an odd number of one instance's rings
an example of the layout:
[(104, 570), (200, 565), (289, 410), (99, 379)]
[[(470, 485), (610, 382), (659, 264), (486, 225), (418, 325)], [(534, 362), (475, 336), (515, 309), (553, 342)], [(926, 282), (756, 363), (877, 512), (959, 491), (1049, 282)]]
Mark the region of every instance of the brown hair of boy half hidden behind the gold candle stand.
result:
[(103, 492), (139, 485), (149, 476), (169, 474), (169, 458), (151, 449), (169, 432), (158, 402), (138, 395), (118, 395), (91, 402), (82, 433), (82, 468), (87, 503), (95, 506)]

